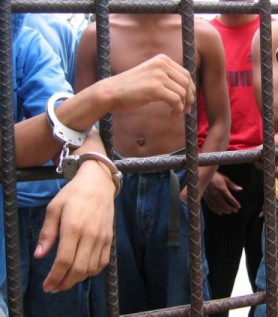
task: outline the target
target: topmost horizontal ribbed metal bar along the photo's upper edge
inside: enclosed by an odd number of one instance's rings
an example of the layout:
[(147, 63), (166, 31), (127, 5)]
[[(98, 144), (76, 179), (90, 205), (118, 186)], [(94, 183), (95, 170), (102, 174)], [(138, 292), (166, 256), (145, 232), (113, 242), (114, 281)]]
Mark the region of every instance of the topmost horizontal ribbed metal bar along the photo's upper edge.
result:
[[(12, 0), (13, 12), (92, 13), (91, 0)], [(110, 13), (179, 13), (180, 1), (111, 0)], [(259, 13), (259, 5), (245, 2), (194, 1), (195, 13)], [(271, 2), (272, 13), (278, 13), (278, 2)]]

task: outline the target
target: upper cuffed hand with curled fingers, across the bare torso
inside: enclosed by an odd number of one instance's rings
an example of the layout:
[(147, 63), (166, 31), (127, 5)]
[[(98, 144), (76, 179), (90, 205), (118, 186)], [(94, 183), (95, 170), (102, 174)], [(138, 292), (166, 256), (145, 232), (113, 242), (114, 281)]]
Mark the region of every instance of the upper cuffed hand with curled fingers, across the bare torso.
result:
[(190, 73), (166, 55), (158, 55), (137, 67), (100, 81), (115, 96), (114, 110), (131, 110), (152, 101), (164, 101), (173, 116), (191, 109), (195, 85)]

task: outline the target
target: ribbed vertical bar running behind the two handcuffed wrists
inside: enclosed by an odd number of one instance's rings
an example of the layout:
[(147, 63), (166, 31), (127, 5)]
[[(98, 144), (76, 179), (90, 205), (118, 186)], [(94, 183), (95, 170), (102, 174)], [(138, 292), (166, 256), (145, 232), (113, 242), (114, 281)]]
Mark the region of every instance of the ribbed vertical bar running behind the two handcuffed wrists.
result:
[[(98, 80), (111, 76), (110, 64), (110, 29), (109, 29), (109, 0), (96, 1), (97, 28), (97, 71)], [(100, 135), (106, 152), (112, 157), (112, 115), (107, 113), (100, 120)], [(105, 299), (108, 316), (119, 316), (117, 248), (114, 226), (114, 237), (111, 247), (109, 265), (105, 270)]]

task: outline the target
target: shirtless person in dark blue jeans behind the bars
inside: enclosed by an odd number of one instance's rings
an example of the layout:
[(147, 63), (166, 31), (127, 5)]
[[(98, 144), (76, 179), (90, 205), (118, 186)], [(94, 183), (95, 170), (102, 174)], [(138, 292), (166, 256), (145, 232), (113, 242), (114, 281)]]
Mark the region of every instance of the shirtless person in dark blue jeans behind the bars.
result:
[[(223, 47), (218, 33), (207, 22), (196, 20), (195, 29), (197, 87), (204, 91), (210, 122), (202, 150), (225, 150), (230, 114)], [(111, 14), (110, 31), (113, 74), (159, 53), (182, 65), (179, 15)], [(97, 80), (96, 57), (96, 26), (91, 24), (83, 33), (78, 49), (77, 92)], [(184, 149), (184, 131), (184, 116), (171, 117), (169, 108), (161, 102), (148, 103), (139, 110), (125, 113), (113, 112), (114, 149), (124, 157), (163, 155)], [(215, 169), (200, 169), (201, 195)], [(178, 246), (168, 244), (169, 182), (174, 173), (124, 176), (124, 185), (116, 200), (121, 314), (190, 302), (186, 171), (175, 173), (180, 182), (181, 206)], [(203, 265), (204, 297), (208, 299), (205, 257)]]

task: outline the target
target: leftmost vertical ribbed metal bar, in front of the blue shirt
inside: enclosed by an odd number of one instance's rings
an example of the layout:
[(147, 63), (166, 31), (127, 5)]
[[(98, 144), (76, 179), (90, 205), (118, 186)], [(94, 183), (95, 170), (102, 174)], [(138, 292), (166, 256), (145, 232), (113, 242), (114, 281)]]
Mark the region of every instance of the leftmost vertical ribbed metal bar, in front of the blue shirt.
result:
[(14, 156), (11, 4), (8, 0), (1, 1), (0, 30), (0, 120), (2, 131), (2, 184), (5, 211), (8, 305), (10, 317), (17, 317), (22, 316), (23, 311)]

